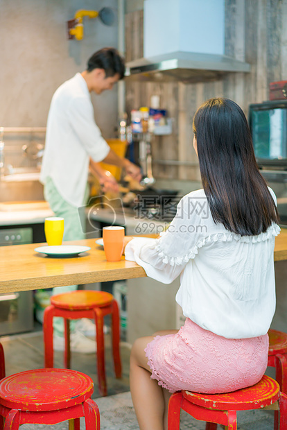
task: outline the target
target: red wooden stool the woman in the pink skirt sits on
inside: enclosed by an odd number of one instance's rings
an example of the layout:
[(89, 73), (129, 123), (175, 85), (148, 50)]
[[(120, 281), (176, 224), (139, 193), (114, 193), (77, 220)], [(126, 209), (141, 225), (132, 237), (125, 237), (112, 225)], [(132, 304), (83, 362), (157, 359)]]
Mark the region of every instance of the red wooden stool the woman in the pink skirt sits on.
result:
[[(274, 428), (287, 429), (287, 396), (280, 393), (279, 384), (264, 375), (252, 387), (224, 394), (199, 394), (191, 391), (177, 391), (171, 395), (168, 404), (168, 430), (180, 429), (180, 410), (183, 409), (196, 420), (207, 421), (206, 430), (216, 430), (217, 424), (237, 429), (236, 411), (261, 409), (279, 401), (280, 421), (275, 416)], [(278, 408), (278, 404), (276, 404)]]

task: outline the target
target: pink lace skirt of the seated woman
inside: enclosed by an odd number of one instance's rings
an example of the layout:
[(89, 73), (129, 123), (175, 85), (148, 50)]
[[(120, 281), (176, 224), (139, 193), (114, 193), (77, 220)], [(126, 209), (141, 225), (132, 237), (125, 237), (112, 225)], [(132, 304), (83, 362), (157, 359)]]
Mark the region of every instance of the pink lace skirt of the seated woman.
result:
[(227, 339), (186, 318), (177, 334), (155, 336), (146, 347), (151, 378), (174, 393), (228, 393), (260, 381), (268, 361), (268, 334)]

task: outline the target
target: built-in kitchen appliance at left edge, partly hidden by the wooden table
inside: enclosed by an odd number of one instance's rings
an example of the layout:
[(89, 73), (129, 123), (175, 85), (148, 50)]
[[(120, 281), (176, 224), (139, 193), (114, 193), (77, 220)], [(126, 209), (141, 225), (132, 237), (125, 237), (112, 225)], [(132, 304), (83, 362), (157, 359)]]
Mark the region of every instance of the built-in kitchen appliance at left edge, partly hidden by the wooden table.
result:
[[(13, 227), (0, 230), (0, 246), (24, 243), (33, 243), (32, 227)], [(33, 291), (0, 294), (0, 336), (31, 332), (33, 327)]]

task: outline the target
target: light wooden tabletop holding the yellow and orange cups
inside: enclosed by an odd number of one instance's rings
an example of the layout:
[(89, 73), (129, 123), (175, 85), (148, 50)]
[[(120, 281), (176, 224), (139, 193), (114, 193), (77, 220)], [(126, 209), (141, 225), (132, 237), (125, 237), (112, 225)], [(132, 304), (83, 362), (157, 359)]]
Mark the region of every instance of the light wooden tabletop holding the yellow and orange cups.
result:
[[(106, 261), (103, 247), (95, 240), (69, 242), (91, 248), (73, 258), (49, 258), (34, 251), (45, 243), (0, 247), (0, 293), (146, 276), (141, 266), (124, 257), (114, 263)], [(287, 229), (281, 229), (275, 239), (274, 259), (287, 259)]]

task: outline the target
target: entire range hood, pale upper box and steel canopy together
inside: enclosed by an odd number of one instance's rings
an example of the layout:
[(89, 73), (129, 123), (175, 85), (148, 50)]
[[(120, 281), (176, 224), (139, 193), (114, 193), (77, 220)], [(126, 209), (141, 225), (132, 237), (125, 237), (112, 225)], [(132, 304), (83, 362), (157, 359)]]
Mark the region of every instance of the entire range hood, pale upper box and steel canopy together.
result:
[(225, 0), (144, 0), (143, 58), (126, 67), (128, 79), (186, 83), (251, 69), (225, 55)]

